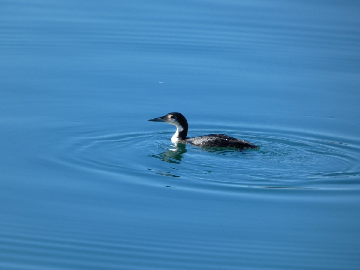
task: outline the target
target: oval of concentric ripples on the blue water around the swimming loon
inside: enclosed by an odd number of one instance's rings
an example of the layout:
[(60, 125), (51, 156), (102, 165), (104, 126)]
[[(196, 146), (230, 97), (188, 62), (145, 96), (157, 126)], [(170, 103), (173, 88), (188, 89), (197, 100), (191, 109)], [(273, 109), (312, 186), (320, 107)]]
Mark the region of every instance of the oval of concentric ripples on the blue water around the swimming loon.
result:
[[(197, 134), (204, 131), (195, 130)], [(237, 136), (233, 130), (224, 131)], [(360, 175), (359, 141), (306, 131), (251, 131), (258, 149), (195, 147), (170, 142), (171, 132), (73, 136), (63, 163), (129, 176), (138, 184), (226, 187), (349, 188)], [(163, 177), (171, 176), (164, 181)], [(342, 186), (344, 185), (344, 186)]]

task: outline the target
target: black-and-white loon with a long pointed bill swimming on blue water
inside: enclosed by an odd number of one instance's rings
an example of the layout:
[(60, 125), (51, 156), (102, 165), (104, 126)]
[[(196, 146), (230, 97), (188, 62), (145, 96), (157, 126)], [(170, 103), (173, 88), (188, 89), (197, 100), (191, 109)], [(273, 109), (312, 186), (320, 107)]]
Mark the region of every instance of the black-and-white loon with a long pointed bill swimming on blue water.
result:
[(257, 145), (248, 141), (236, 139), (224, 134), (210, 134), (199, 137), (188, 138), (188, 121), (183, 114), (178, 112), (168, 113), (165, 116), (150, 119), (149, 121), (165, 122), (176, 126), (176, 132), (172, 136), (173, 143), (188, 143), (197, 146), (212, 146), (212, 147), (236, 147), (243, 148), (258, 148)]

